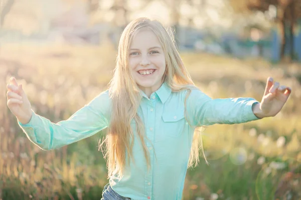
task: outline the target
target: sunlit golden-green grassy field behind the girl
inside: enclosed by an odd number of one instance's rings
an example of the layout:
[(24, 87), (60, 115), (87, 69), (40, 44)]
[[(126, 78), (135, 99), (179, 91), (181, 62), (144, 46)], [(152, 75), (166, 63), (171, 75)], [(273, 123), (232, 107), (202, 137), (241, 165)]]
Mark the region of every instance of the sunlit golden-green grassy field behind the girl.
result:
[[(112, 77), (110, 45), (5, 45), (0, 49), (0, 199), (100, 199), (106, 179), (98, 140), (106, 130), (61, 149), (31, 143), (10, 113), (6, 85), (15, 76), (33, 109), (53, 122), (67, 119)], [(196, 85), (212, 98), (260, 101), (268, 76), (292, 94), (273, 118), (203, 130), (204, 159), (189, 169), (183, 199), (301, 199), (301, 65), (273, 65), (183, 53)]]

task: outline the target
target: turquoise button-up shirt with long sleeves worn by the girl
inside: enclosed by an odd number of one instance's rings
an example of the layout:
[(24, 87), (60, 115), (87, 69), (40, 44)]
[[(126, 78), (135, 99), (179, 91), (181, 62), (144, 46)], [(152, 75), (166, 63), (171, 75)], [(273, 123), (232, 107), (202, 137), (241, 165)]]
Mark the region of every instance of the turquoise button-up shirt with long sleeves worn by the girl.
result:
[[(141, 92), (141, 91), (140, 91)], [(184, 101), (188, 91), (172, 92), (164, 83), (148, 98), (143, 92), (138, 115), (145, 125), (145, 140), (150, 153), (151, 169), (139, 139), (134, 132), (133, 157), (121, 179), (109, 178), (111, 187), (120, 195), (133, 200), (181, 199), (194, 127), (184, 118)], [(258, 119), (252, 98), (211, 99), (200, 90), (192, 90), (187, 99), (187, 112), (192, 126), (234, 124)], [(45, 150), (60, 148), (89, 137), (108, 127), (111, 99), (108, 90), (75, 112), (69, 119), (52, 123), (37, 115), (28, 124), (18, 121), (27, 137)], [(135, 131), (134, 121), (131, 123)], [(152, 145), (153, 144), (153, 145)]]

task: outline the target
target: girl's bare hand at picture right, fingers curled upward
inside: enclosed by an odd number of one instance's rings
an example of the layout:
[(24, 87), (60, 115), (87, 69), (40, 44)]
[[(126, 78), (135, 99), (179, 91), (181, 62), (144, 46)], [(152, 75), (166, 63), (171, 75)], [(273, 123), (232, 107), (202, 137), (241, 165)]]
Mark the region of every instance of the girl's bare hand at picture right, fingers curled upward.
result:
[(273, 78), (268, 77), (264, 95), (260, 103), (261, 115), (263, 117), (275, 116), (287, 101), (291, 89), (279, 82), (273, 82)]

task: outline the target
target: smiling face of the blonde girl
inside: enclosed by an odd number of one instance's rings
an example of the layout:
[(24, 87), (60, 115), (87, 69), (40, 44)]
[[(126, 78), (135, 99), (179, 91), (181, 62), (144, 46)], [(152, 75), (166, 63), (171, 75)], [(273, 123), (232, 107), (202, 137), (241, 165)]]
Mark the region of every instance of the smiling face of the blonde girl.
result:
[(143, 29), (133, 37), (129, 68), (133, 79), (147, 96), (160, 88), (166, 63), (163, 48), (154, 32)]

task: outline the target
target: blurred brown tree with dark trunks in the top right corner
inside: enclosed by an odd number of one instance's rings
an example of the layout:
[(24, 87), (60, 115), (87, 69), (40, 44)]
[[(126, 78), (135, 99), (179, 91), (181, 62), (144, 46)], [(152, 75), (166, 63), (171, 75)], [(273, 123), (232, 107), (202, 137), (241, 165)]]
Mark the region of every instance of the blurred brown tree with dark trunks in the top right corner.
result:
[[(260, 11), (263, 13), (273, 12), (272, 20), (280, 27), (281, 33), (281, 50), (280, 57), (284, 58), (284, 50), (288, 38), (290, 59), (294, 58), (294, 31), (297, 20), (301, 18), (301, 1), (300, 0), (229, 0), (236, 12)], [(287, 33), (287, 36), (286, 36)]]

